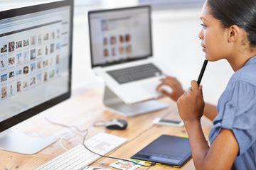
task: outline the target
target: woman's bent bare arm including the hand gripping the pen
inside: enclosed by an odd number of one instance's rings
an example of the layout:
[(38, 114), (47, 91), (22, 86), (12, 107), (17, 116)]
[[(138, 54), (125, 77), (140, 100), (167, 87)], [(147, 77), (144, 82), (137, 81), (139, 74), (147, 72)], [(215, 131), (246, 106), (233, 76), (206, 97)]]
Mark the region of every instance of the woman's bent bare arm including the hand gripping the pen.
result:
[(238, 142), (232, 130), (222, 129), (211, 147), (208, 146), (200, 121), (205, 106), (202, 86), (191, 81), (191, 88), (178, 98), (177, 106), (188, 132), (196, 169), (231, 169), (239, 152)]

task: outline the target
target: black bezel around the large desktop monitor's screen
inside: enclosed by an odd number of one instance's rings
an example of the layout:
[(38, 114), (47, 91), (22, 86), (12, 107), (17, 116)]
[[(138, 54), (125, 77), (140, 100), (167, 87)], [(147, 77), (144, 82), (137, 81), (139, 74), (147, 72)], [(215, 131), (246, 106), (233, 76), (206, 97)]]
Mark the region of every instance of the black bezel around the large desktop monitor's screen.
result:
[[(46, 109), (55, 106), (56, 104), (65, 101), (71, 96), (71, 73), (72, 73), (72, 47), (73, 47), (73, 13), (74, 13), (74, 1), (65, 0), (65, 1), (54, 1), (46, 4), (36, 4), (33, 6), (25, 6), (21, 8), (12, 8), (6, 11), (0, 11), (0, 20), (6, 18), (13, 18), (15, 16), (22, 16), (29, 13), (36, 13), (40, 11), (46, 11), (48, 9), (58, 8), (62, 6), (70, 6), (70, 40), (69, 40), (69, 55), (68, 55), (68, 92), (50, 99), (44, 103), (38, 104), (33, 108), (30, 108), (26, 111), (18, 113), (11, 118), (3, 120), (0, 122), (0, 132), (7, 130), (18, 123), (31, 118), (33, 115), (37, 115)], [(1, 101), (0, 101), (1, 102)]]

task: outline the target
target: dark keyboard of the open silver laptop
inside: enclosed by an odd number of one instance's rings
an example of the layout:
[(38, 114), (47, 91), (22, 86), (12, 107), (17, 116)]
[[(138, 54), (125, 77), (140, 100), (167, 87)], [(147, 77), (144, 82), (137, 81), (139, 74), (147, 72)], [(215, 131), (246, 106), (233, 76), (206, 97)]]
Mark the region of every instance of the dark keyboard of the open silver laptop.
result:
[(119, 84), (125, 84), (132, 81), (158, 77), (163, 73), (154, 64), (143, 64), (124, 69), (115, 69), (107, 72)]

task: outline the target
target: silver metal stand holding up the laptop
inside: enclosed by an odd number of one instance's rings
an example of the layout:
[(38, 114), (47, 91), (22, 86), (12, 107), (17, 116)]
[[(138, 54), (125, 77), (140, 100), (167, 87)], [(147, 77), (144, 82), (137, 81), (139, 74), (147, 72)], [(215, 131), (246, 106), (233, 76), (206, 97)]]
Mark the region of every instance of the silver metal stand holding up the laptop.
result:
[(105, 86), (103, 103), (110, 111), (126, 116), (140, 115), (169, 107), (167, 103), (154, 100), (133, 104), (124, 103), (108, 86)]

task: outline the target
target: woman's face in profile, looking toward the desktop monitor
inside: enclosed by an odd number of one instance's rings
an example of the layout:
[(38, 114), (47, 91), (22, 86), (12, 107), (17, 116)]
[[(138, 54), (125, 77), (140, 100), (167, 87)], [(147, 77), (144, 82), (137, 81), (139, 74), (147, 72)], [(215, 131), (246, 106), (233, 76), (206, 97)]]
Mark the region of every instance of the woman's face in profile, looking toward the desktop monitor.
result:
[(202, 40), (201, 46), (206, 53), (206, 59), (217, 61), (228, 57), (228, 31), (220, 21), (210, 14), (207, 3), (204, 4), (201, 12), (202, 29), (198, 37)]

